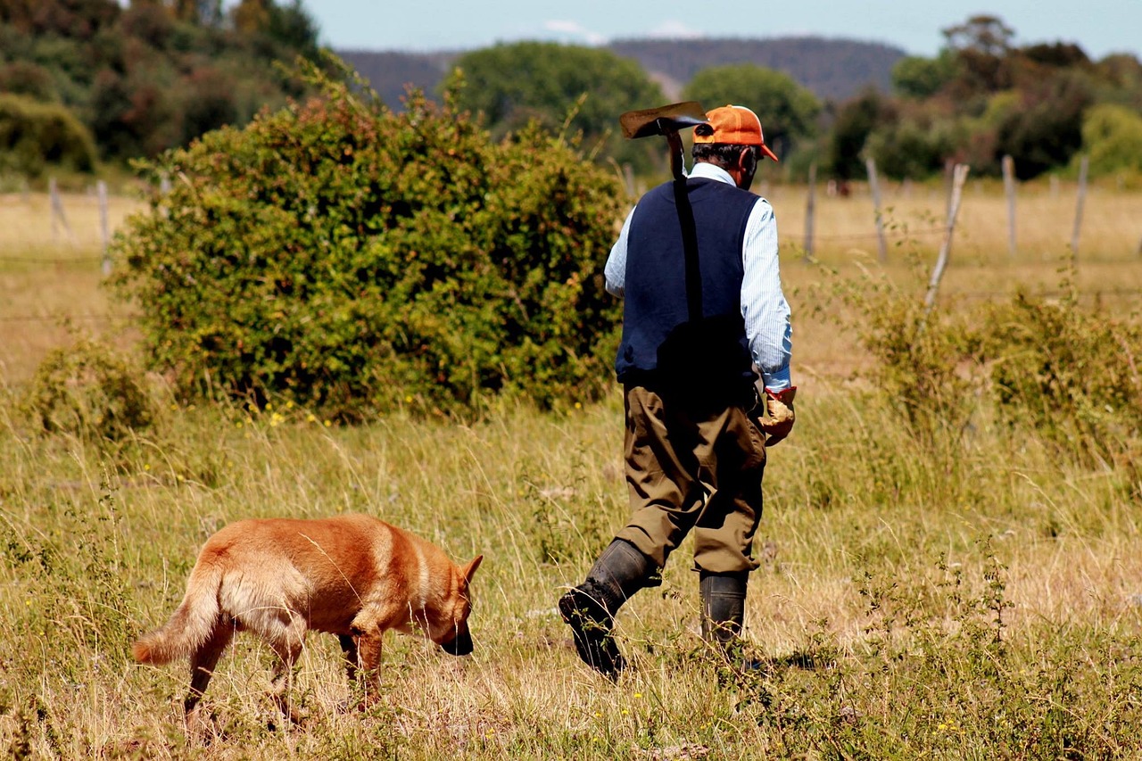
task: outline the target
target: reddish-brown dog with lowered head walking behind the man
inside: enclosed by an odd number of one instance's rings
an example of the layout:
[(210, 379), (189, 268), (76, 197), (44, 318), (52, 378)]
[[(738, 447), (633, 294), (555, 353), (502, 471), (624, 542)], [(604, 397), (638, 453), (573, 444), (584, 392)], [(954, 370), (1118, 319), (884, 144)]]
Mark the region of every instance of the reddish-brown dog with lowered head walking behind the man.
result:
[(235, 632), (249, 631), (280, 656), (278, 705), (291, 719), (290, 674), (309, 630), (336, 634), (352, 681), (365, 675), (365, 702), (379, 689), (387, 630), (423, 634), (445, 652), (472, 652), (468, 584), (483, 555), (464, 568), (435, 545), (368, 515), (244, 520), (209, 539), (186, 596), (162, 628), (134, 647), (139, 663), (191, 659), (190, 714)]

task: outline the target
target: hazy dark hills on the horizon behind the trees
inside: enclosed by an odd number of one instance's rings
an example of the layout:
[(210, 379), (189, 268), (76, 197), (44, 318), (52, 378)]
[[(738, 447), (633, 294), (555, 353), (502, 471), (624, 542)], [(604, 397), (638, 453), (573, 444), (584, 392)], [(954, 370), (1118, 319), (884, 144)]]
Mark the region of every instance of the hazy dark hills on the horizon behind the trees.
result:
[[(677, 96), (707, 66), (755, 63), (783, 71), (822, 101), (844, 101), (869, 86), (887, 91), (892, 66), (906, 55), (877, 42), (819, 37), (617, 40), (608, 48), (641, 63), (667, 97)], [(400, 107), (407, 83), (433, 96), (452, 61), (463, 53), (337, 51), (393, 107)]]

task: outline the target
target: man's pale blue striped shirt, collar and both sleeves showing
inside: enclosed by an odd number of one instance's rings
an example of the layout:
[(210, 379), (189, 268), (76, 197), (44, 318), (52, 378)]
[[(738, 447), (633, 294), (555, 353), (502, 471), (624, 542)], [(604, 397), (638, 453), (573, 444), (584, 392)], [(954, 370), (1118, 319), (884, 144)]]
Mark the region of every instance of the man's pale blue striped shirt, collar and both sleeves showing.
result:
[[(703, 161), (694, 165), (690, 176), (734, 184), (725, 169)], [(626, 287), (627, 235), (637, 208), (632, 209), (622, 223), (622, 232), (611, 247), (603, 270), (608, 293), (619, 297)], [(757, 200), (746, 222), (741, 261), (746, 271), (741, 281), (741, 317), (746, 321), (749, 351), (765, 387), (774, 392), (785, 391), (791, 385), (789, 358), (793, 353), (793, 325), (778, 267), (778, 222), (773, 207), (764, 198)]]

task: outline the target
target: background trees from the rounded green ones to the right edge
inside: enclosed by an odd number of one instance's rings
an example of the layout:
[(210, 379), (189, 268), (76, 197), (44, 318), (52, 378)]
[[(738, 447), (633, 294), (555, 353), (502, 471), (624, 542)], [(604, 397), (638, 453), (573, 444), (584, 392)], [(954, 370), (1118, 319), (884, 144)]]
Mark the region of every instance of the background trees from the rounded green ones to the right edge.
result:
[[(1135, 56), (1096, 62), (1068, 42), (1015, 46), (1014, 30), (995, 16), (973, 16), (943, 35), (936, 56), (896, 62), (888, 91), (869, 87), (822, 101), (786, 73), (731, 63), (698, 70), (679, 97), (755, 109), (766, 142), (794, 176), (815, 162), (837, 179), (863, 178), (869, 158), (894, 178), (940, 175), (949, 163), (998, 176), (1010, 155), (1018, 176), (1029, 179), (1068, 170), (1079, 154), (1088, 155), (1094, 174), (1142, 174), (1142, 63)], [(594, 62), (594, 74), (602, 72), (589, 83), (581, 79), (584, 58)], [(532, 69), (537, 62), (541, 69)], [(455, 90), (491, 129), (509, 130), (537, 114), (552, 123), (570, 115), (585, 139), (603, 141), (612, 158), (629, 159), (633, 150), (614, 137), (616, 115), (666, 102), (645, 72), (605, 49), (500, 45), (452, 65), (441, 93)], [(520, 75), (524, 71), (541, 73)], [(581, 93), (594, 105), (572, 113), (568, 104)]]

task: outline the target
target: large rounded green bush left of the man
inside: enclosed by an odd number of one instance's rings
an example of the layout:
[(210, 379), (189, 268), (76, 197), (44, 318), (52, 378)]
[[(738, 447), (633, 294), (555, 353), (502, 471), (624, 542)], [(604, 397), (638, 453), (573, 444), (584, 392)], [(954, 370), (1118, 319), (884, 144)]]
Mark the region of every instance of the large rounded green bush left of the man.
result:
[(450, 101), (397, 114), (307, 77), (324, 97), (143, 165), (176, 182), (113, 254), (154, 366), (351, 420), (597, 395), (616, 178), (537, 129), (492, 143)]

